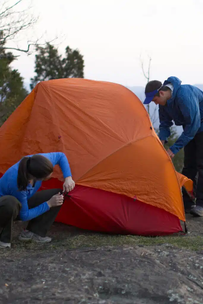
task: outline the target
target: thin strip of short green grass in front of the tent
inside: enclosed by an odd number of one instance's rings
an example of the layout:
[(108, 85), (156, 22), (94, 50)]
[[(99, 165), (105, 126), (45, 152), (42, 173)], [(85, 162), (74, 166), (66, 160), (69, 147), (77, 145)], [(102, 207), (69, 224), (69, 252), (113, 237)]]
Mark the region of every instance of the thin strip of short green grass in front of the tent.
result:
[(22, 250), (37, 249), (77, 249), (82, 247), (105, 247), (105, 246), (131, 246), (136, 245), (154, 246), (161, 244), (170, 244), (177, 248), (186, 248), (189, 250), (202, 250), (203, 237), (189, 236), (171, 236), (171, 237), (138, 237), (138, 236), (123, 236), (123, 235), (103, 235), (103, 234), (79, 234), (66, 239), (53, 240), (50, 244), (38, 245), (32, 242), (16, 243), (15, 248)]

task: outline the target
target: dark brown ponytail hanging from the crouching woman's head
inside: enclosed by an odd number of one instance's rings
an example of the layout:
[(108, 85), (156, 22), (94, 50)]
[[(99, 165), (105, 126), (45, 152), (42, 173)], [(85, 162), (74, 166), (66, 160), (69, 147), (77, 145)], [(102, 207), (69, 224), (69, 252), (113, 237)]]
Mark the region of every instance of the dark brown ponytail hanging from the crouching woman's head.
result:
[(26, 190), (26, 187), (29, 182), (29, 174), (27, 170), (29, 162), (30, 162), (30, 157), (27, 156), (23, 157), (19, 162), (17, 184), (18, 184), (18, 189), (20, 191)]

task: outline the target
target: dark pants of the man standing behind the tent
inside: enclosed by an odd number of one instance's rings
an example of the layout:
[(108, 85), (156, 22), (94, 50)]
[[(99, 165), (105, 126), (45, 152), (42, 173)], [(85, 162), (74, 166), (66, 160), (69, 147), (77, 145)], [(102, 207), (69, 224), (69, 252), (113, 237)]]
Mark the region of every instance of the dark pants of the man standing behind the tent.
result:
[[(184, 147), (184, 168), (182, 174), (193, 181), (196, 205), (203, 207), (203, 132), (196, 134), (194, 139)], [(185, 209), (193, 205), (192, 200), (184, 189), (183, 201)]]

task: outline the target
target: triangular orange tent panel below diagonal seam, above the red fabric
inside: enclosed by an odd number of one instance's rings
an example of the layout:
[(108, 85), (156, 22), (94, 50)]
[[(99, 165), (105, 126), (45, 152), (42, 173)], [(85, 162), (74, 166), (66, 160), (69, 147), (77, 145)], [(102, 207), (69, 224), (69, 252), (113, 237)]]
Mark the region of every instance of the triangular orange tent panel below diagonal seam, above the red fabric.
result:
[[(146, 153), (146, 151), (150, 151)], [(154, 136), (129, 143), (87, 172), (79, 185), (136, 197), (184, 220), (173, 164)]]

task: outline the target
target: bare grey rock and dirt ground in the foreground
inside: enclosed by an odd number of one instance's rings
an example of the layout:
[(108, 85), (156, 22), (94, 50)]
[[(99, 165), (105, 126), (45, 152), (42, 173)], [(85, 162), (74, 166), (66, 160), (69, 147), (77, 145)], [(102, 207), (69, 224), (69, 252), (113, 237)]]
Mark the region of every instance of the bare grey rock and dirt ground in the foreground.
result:
[[(187, 215), (189, 234), (174, 238), (199, 237), (203, 247), (202, 224)], [(49, 233), (52, 245), (22, 244), (16, 240), (21, 228), (14, 225), (13, 248), (0, 251), (0, 303), (203, 304), (202, 249), (178, 248), (167, 238), (162, 245), (145, 238), (151, 246), (115, 240), (94, 246), (89, 239), (84, 247), (91, 233), (58, 223)]]

